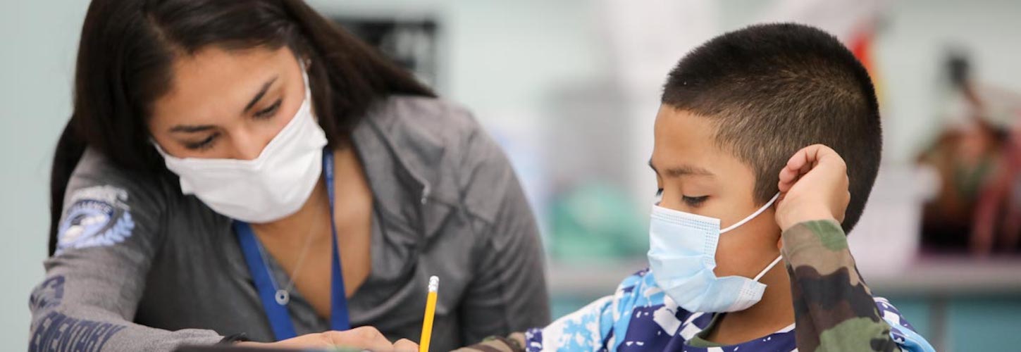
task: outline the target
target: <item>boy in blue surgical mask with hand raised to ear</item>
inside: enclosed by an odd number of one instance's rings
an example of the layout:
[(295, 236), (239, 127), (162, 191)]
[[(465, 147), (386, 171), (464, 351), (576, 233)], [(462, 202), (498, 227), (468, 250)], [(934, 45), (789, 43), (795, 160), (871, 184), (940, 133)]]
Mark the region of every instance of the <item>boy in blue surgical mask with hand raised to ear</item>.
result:
[(847, 250), (881, 128), (868, 72), (835, 38), (780, 23), (707, 42), (670, 72), (654, 138), (649, 269), (469, 349), (933, 350)]

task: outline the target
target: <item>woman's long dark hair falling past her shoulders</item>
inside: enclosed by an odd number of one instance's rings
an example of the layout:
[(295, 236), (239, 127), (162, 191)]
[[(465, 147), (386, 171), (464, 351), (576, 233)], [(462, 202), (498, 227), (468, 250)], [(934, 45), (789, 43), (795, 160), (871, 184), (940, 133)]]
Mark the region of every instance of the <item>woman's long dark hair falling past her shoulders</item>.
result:
[(288, 47), (308, 58), (309, 86), (331, 145), (346, 143), (369, 108), (392, 94), (435, 96), (407, 71), (298, 0), (95, 0), (82, 27), (75, 108), (50, 174), (49, 251), (67, 182), (85, 149), (145, 178), (168, 175), (148, 143), (150, 106), (172, 63), (207, 46)]

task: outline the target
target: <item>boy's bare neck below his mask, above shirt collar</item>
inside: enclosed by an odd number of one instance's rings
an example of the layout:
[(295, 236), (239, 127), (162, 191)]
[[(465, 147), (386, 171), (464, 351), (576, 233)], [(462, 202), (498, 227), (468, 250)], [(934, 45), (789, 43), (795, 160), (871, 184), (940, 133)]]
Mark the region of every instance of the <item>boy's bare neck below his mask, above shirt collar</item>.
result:
[(784, 261), (773, 266), (761, 283), (766, 292), (759, 303), (748, 309), (721, 316), (706, 339), (723, 345), (735, 345), (768, 336), (794, 323), (794, 307), (790, 295), (790, 278)]

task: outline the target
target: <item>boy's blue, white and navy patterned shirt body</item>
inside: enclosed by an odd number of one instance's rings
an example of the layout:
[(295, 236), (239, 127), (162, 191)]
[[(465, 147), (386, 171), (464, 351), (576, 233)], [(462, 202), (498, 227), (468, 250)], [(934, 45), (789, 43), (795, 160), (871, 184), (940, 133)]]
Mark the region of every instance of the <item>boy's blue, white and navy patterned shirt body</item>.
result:
[[(890, 337), (905, 351), (934, 351), (901, 312), (875, 298)], [(689, 341), (714, 314), (688, 312), (677, 306), (647, 269), (625, 279), (613, 296), (600, 298), (545, 328), (525, 333), (528, 351), (797, 351), (794, 324), (736, 345), (695, 347)]]

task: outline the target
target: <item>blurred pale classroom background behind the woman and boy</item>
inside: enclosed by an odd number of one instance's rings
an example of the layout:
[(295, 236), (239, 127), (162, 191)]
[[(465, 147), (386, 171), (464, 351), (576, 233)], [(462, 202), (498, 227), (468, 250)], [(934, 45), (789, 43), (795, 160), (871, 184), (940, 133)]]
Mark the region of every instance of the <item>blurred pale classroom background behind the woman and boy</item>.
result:
[[(850, 237), (863, 274), (939, 350), (1021, 346), (1021, 255), (930, 249), (923, 203), (940, 179), (916, 162), (946, 121), (976, 110), (947, 83), (949, 53), (967, 58), (969, 87), (989, 97), (984, 116), (1009, 131), (1021, 115), (1012, 93), (1021, 92), (1021, 2), (311, 3), (468, 106), (503, 145), (542, 222), (557, 315), (644, 266), (654, 192), (645, 161), (670, 66), (715, 35), (763, 20), (831, 31), (869, 58), (884, 115), (883, 170)], [(23, 350), (28, 296), (46, 256), (49, 159), (71, 108), (88, 2), (0, 4), (0, 349)]]

